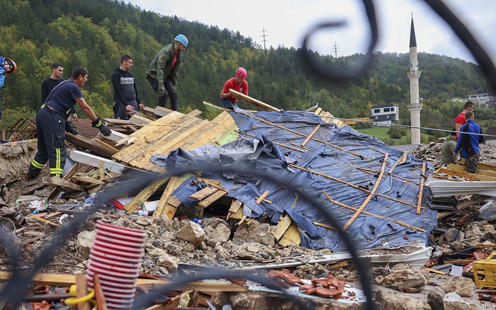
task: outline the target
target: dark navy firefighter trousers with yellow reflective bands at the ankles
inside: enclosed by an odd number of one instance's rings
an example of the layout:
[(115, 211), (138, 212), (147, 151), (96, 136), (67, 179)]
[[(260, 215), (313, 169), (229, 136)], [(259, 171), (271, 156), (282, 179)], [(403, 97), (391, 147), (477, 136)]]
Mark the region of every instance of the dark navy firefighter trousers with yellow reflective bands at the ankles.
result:
[(36, 114), (36, 134), (38, 152), (29, 165), (29, 173), (38, 176), (47, 163), (51, 177), (62, 177), (65, 165), (65, 117), (63, 113), (44, 106)]

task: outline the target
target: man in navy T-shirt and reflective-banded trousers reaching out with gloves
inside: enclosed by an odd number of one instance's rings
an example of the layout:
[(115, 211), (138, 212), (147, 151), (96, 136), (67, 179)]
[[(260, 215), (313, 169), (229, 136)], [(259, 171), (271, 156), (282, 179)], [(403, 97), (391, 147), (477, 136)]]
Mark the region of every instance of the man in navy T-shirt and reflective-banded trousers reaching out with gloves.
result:
[(92, 121), (93, 127), (98, 128), (105, 136), (110, 135), (111, 130), (95, 115), (81, 93), (81, 87), (87, 80), (88, 70), (75, 67), (71, 78), (52, 89), (36, 114), (38, 152), (29, 165), (28, 180), (37, 177), (47, 161), (50, 165), (50, 176), (62, 176), (65, 165), (65, 123), (70, 121), (70, 113), (76, 103)]

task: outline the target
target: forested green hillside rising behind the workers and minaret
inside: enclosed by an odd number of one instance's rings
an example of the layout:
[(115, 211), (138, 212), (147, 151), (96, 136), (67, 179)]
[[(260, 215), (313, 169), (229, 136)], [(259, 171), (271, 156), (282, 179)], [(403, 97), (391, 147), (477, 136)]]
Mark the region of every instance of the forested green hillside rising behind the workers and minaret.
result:
[[(340, 85), (314, 79), (301, 67), (294, 48), (264, 51), (239, 32), (162, 16), (131, 4), (112, 0), (0, 0), (0, 55), (14, 59), (19, 68), (0, 90), (4, 117), (0, 128), (21, 115), (34, 115), (40, 106), (40, 85), (50, 65), (64, 64), (63, 78), (73, 67), (89, 70), (83, 92), (88, 103), (104, 117), (112, 116), (110, 76), (119, 58), (133, 57), (131, 71), (147, 106), (155, 107), (156, 94), (145, 78), (149, 62), (178, 33), (189, 40), (178, 78), (180, 111), (204, 110), (203, 101), (218, 103), (223, 83), (238, 66), (248, 70), (249, 95), (285, 110), (305, 110), (316, 102), (337, 117), (370, 116), (374, 105), (398, 104), (402, 122), (409, 124), (407, 54), (376, 53), (368, 75)], [(164, 12), (167, 14), (166, 12)], [(422, 51), (422, 47), (419, 47)], [(405, 51), (408, 48), (405, 47)], [(361, 55), (322, 57), (330, 70), (343, 70)], [(461, 111), (453, 97), (488, 92), (477, 65), (426, 53), (419, 54), (422, 70), (420, 96), (424, 98), (422, 125), (449, 127)], [(486, 115), (487, 114), (487, 115)], [(491, 121), (492, 111), (481, 112)], [(445, 129), (449, 129), (449, 128)]]

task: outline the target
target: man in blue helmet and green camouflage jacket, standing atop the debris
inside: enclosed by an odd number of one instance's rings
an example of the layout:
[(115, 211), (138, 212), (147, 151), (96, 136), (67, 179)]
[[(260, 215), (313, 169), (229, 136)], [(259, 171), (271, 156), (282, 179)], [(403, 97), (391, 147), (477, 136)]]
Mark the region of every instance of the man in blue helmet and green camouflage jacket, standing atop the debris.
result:
[(157, 106), (165, 108), (167, 98), (171, 98), (171, 110), (178, 111), (178, 70), (183, 59), (182, 52), (187, 47), (184, 35), (176, 36), (175, 41), (165, 46), (155, 55), (146, 70), (146, 79), (158, 94)]

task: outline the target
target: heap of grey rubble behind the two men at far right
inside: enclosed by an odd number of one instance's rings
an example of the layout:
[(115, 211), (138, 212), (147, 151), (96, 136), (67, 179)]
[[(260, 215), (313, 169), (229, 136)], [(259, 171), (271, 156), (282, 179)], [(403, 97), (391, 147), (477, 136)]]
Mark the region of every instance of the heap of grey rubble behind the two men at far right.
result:
[[(441, 138), (442, 140), (442, 138)], [(496, 165), (496, 146), (481, 144), (479, 161), (489, 165)], [(441, 163), (442, 142), (429, 144), (419, 144), (409, 152), (418, 159), (431, 162), (434, 167), (439, 167)]]

